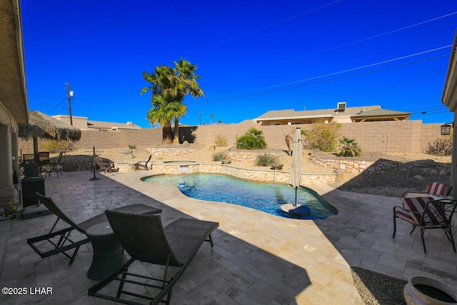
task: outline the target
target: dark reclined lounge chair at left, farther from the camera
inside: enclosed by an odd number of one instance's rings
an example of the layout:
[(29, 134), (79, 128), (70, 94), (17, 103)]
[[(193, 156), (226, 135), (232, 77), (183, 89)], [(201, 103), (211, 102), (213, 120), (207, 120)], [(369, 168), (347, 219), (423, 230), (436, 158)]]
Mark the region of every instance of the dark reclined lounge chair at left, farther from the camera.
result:
[[(71, 264), (73, 264), (76, 254), (78, 254), (78, 250), (79, 250), (80, 246), (91, 241), (91, 237), (95, 237), (95, 238), (100, 237), (100, 236), (104, 237), (101, 234), (91, 236), (91, 234), (89, 234), (88, 231), (99, 231), (99, 226), (101, 226), (104, 223), (108, 224), (108, 219), (106, 219), (106, 214), (102, 213), (102, 214), (92, 217), (91, 219), (87, 219), (86, 221), (76, 224), (74, 221), (72, 221), (69, 218), (69, 216), (66, 216), (66, 214), (63, 211), (61, 211), (61, 209), (59, 209), (58, 206), (56, 206), (56, 204), (54, 203), (54, 201), (51, 198), (45, 197), (45, 196), (39, 194), (38, 192), (36, 192), (35, 195), (38, 197), (41, 204), (44, 204), (44, 206), (46, 206), (46, 208), (48, 208), (49, 211), (51, 211), (54, 215), (57, 216), (56, 222), (54, 223), (54, 225), (52, 226), (52, 228), (48, 234), (44, 234), (41, 236), (33, 237), (31, 239), (27, 239), (27, 244), (29, 244), (29, 246), (31, 246), (31, 248), (34, 249), (34, 251), (37, 254), (39, 254), (39, 256), (41, 256), (41, 259), (52, 256), (54, 254), (61, 253), (70, 259), (69, 265), (71, 265)], [(161, 212), (160, 209), (156, 209), (152, 206), (146, 206), (144, 204), (121, 206), (120, 208), (117, 208), (117, 210), (131, 211), (131, 212), (138, 213), (138, 214), (142, 214), (142, 213), (155, 214), (155, 213)], [(66, 226), (65, 229), (59, 229), (59, 230), (54, 231), (54, 229), (56, 229), (56, 224), (59, 222), (59, 220), (64, 221), (68, 226)], [(80, 236), (79, 239), (77, 239), (75, 241), (72, 240), (73, 237), (72, 237), (72, 239), (70, 239), (70, 234), (74, 230), (81, 232), (81, 234), (84, 234), (84, 236)], [(49, 247), (49, 244), (47, 247), (45, 246), (45, 244), (47, 244), (46, 241), (51, 244), (51, 247)], [(94, 246), (94, 244), (93, 244), (93, 246)], [(109, 248), (109, 246), (107, 244), (104, 244), (104, 246)], [(41, 251), (40, 248), (45, 249), (45, 250)], [(71, 254), (71, 255), (67, 254), (66, 251), (70, 251), (71, 249), (74, 249), (73, 254)], [(112, 247), (110, 249), (112, 251)], [(114, 269), (116, 269), (116, 266), (114, 266)]]

